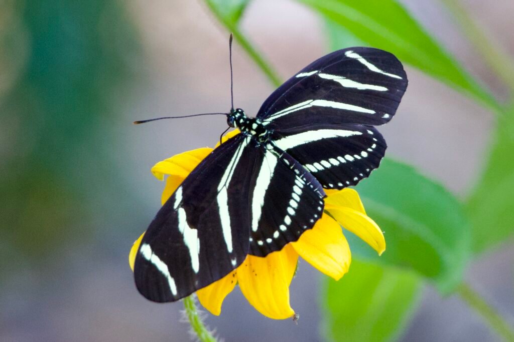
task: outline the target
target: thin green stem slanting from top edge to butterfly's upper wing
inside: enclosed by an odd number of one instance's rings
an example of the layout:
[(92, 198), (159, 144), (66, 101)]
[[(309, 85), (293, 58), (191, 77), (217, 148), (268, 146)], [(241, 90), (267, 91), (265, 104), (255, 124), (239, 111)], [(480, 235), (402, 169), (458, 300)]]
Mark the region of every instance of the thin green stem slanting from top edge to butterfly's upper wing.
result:
[(282, 84), (281, 78), (278, 76), (277, 72), (271, 67), (271, 65), (266, 61), (264, 56), (260, 54), (256, 49), (253, 48), (252, 44), (245, 36), (243, 32), (237, 27), (235, 23), (231, 23), (230, 19), (225, 17), (218, 9), (218, 7), (212, 2), (212, 0), (205, 0), (205, 3), (209, 7), (211, 13), (216, 17), (216, 19), (225, 26), (225, 28), (232, 32), (234, 35), (234, 41), (241, 45), (243, 49), (248, 53), (248, 55), (253, 59), (253, 62), (261, 68), (262, 72), (268, 77), (269, 81), (275, 86), (278, 87)]

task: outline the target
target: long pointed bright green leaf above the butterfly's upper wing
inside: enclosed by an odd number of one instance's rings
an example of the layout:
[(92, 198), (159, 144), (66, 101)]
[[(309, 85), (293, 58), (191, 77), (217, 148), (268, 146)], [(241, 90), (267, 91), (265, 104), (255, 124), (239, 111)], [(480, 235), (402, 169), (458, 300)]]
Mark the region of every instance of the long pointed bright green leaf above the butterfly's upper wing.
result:
[[(449, 86), (497, 109), (485, 91), (423, 27), (394, 0), (299, 0), (325, 19), (352, 32), (366, 45), (394, 53), (408, 63)], [(346, 33), (341, 33), (343, 36)], [(331, 33), (331, 37), (337, 34)], [(348, 45), (340, 45), (344, 48)]]

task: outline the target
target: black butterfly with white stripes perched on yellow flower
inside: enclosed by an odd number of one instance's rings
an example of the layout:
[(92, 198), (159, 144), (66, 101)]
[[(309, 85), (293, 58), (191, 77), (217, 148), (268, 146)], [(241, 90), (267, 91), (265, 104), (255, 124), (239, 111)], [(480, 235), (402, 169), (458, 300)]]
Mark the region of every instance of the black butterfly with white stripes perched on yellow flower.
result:
[(280, 251), (313, 228), (324, 189), (343, 189), (380, 164), (386, 124), (407, 89), (391, 53), (327, 54), (275, 90), (255, 117), (231, 109), (241, 132), (183, 181), (144, 234), (134, 277), (146, 298), (175, 301), (221, 279), (248, 254)]

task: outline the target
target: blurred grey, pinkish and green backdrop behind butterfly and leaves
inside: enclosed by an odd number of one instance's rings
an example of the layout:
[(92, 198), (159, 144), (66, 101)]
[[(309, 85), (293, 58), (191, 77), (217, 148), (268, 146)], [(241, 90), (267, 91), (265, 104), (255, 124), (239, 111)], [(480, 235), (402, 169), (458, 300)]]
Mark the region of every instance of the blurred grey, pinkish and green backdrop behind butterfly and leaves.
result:
[[(441, 3), (401, 3), (506, 98)], [(514, 3), (463, 3), (514, 56)], [(333, 49), (320, 17), (292, 0), (255, 0), (240, 25), (282, 79)], [(254, 115), (274, 87), (237, 42), (233, 66), (234, 104)], [(494, 115), (418, 69), (406, 70), (408, 91), (381, 128), (388, 156), (464, 198), (488, 158)], [(228, 32), (201, 1), (0, 4), (0, 340), (189, 340), (182, 305), (139, 295), (127, 256), (160, 207), (163, 183), (150, 168), (213, 146), (226, 123), (218, 116), (132, 122), (229, 108)], [(512, 265), (510, 240), (475, 259), (465, 276), (510, 321)], [(227, 341), (324, 340), (323, 277), (300, 264), (291, 285), (298, 325), (262, 316), (238, 289), (207, 323)], [(459, 298), (443, 297), (429, 283), (406, 324), (399, 340), (500, 340)]]

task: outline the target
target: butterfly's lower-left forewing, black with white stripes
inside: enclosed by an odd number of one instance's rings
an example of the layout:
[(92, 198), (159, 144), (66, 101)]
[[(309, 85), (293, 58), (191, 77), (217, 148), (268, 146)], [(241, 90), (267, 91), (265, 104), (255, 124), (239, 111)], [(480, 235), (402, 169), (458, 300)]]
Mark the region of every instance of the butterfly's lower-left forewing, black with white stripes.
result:
[(251, 138), (207, 156), (157, 213), (136, 255), (139, 292), (164, 302), (190, 295), (240, 265), (249, 248)]

